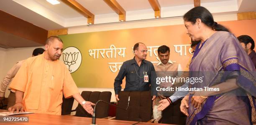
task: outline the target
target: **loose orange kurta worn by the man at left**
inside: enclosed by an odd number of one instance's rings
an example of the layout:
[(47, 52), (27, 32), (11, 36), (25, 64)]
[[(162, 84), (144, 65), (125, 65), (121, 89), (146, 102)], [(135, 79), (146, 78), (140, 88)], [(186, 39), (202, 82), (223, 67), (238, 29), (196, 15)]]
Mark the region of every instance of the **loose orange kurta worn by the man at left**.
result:
[(10, 88), (24, 92), (28, 112), (61, 115), (62, 96), (79, 93), (67, 67), (44, 59), (44, 54), (28, 58), (13, 78)]

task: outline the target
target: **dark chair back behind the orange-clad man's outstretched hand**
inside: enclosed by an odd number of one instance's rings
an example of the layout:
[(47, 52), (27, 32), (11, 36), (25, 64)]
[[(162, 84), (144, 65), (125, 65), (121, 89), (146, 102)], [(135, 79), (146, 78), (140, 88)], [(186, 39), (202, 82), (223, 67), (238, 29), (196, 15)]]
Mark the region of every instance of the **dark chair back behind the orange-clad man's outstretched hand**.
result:
[[(108, 103), (110, 103), (111, 98), (111, 92), (110, 91), (83, 91), (81, 93), (81, 96), (84, 98), (84, 100), (90, 101), (92, 103), (96, 103), (98, 100), (104, 100)], [(79, 104), (76, 108), (76, 114), (75, 116), (79, 117), (92, 117), (89, 113), (87, 113), (84, 108)], [(96, 118), (105, 118), (108, 117), (108, 111), (109, 111), (109, 105), (106, 103), (98, 103), (96, 108)]]

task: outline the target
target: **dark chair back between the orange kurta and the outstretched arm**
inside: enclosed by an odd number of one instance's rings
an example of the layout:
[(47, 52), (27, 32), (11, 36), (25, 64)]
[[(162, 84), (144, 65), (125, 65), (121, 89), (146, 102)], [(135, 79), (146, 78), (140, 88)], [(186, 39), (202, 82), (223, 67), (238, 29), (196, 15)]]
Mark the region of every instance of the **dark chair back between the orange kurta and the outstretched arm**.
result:
[(74, 103), (74, 98), (64, 98), (62, 97), (62, 105), (61, 105), (61, 115), (70, 115), (72, 106)]

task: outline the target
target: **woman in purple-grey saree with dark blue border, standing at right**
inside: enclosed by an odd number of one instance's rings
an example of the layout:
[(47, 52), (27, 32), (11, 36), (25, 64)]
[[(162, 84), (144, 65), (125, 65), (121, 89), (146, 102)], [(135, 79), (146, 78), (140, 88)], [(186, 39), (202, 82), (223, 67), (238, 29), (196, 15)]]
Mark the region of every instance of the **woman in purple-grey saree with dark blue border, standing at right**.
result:
[[(205, 7), (189, 10), (183, 19), (189, 37), (201, 41), (189, 65), (190, 78), (203, 77), (202, 83), (189, 86), (203, 91), (190, 92), (182, 99), (180, 109), (187, 115), (187, 125), (255, 124), (254, 66), (236, 37), (214, 22)], [(205, 91), (206, 87), (218, 91)], [(164, 110), (172, 102), (160, 103), (159, 110)]]

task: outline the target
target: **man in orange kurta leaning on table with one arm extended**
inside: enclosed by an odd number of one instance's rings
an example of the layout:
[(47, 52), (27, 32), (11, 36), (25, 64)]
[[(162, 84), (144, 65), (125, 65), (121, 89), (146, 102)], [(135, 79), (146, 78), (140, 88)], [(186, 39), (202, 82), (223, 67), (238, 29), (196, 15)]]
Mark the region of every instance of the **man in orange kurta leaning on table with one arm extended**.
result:
[(67, 67), (59, 61), (63, 42), (59, 37), (46, 40), (46, 51), (28, 58), (13, 78), (10, 88), (16, 91), (15, 105), (10, 112), (28, 111), (61, 115), (62, 96), (73, 97), (88, 113), (93, 113), (93, 103), (85, 101)]

